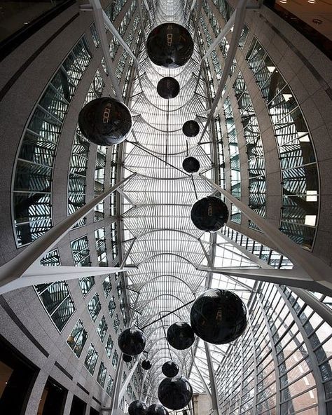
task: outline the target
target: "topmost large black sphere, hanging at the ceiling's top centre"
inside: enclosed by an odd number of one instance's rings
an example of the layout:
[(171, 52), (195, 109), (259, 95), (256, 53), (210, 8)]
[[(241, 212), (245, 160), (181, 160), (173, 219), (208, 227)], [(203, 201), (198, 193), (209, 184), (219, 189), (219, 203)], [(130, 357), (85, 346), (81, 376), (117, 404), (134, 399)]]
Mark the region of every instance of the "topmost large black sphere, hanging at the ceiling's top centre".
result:
[(163, 23), (148, 35), (146, 52), (152, 62), (160, 67), (181, 67), (193, 55), (193, 39), (186, 27)]

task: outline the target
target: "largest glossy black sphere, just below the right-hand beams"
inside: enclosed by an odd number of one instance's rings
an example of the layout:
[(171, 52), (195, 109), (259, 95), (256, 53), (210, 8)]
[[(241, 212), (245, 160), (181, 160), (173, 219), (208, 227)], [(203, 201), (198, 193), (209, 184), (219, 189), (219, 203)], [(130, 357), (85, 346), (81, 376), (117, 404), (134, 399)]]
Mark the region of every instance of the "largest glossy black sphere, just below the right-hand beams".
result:
[(214, 344), (234, 341), (247, 327), (247, 310), (239, 296), (212, 288), (191, 307), (191, 327), (202, 340)]

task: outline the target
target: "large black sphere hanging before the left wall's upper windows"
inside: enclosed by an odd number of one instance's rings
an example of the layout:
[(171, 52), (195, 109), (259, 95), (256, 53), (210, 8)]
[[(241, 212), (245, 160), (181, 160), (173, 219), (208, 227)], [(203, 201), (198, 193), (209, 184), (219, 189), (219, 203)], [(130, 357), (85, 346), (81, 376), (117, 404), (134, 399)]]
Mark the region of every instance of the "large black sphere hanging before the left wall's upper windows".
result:
[(122, 102), (111, 97), (88, 102), (78, 115), (83, 135), (100, 146), (111, 146), (125, 140), (132, 128), (132, 116)]

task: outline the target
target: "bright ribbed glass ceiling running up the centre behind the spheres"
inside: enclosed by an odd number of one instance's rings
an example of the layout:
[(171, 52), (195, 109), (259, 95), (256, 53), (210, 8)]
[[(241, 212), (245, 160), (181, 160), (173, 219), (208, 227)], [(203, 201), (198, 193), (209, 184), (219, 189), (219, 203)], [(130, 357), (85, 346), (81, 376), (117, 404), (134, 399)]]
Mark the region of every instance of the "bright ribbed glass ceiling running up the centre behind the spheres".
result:
[[(188, 27), (181, 1), (156, 1), (151, 14), (156, 25), (172, 21)], [(148, 25), (146, 36), (150, 30)], [(192, 23), (188, 30), (193, 36)], [(136, 303), (134, 316), (138, 327), (147, 326), (144, 329), (148, 339), (146, 352), (152, 363), (146, 376), (148, 395), (156, 397), (158, 384), (163, 379), (160, 368), (170, 358), (179, 365), (181, 374), (191, 376), (193, 388), (199, 392), (202, 382), (193, 367), (193, 356), (187, 350), (171, 348), (169, 351), (165, 332), (174, 322), (190, 321), (191, 304), (188, 303), (206, 287), (235, 290), (244, 301), (249, 299), (253, 281), (242, 280), (243, 285), (236, 278), (198, 271), (198, 266), (213, 261), (211, 255), (216, 266), (258, 266), (222, 236), (203, 233), (191, 222), (191, 206), (195, 200), (214, 193), (204, 179), (198, 175), (191, 177), (182, 169), (183, 159), (187, 155), (195, 156), (200, 161), (200, 172), (214, 178), (212, 132), (207, 129), (201, 134), (211, 102), (205, 81), (199, 76), (198, 43), (195, 42), (191, 60), (178, 69), (156, 67), (148, 59), (144, 46), (138, 61), (139, 76), (134, 81), (129, 102), (133, 126), (123, 154), (124, 176), (132, 172), (138, 175), (125, 182), (121, 192), (124, 252), (130, 251), (127, 266), (133, 266), (127, 272), (128, 298), (132, 307)], [(157, 83), (164, 76), (173, 76), (179, 81), (180, 93), (172, 100), (165, 100), (157, 93)], [(182, 132), (184, 122), (191, 119), (200, 124), (200, 134), (196, 137), (186, 137)], [(177, 308), (180, 309), (162, 322), (153, 323)], [(201, 343), (196, 340), (192, 349), (196, 353), (196, 367), (206, 374)], [(216, 363), (226, 348), (227, 345), (212, 346)]]

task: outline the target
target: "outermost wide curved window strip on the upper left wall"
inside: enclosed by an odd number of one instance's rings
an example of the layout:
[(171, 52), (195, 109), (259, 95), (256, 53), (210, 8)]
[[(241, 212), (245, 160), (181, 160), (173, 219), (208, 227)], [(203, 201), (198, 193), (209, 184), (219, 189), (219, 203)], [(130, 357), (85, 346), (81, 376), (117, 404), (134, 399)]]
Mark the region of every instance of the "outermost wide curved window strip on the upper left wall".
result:
[(92, 55), (83, 36), (39, 99), (23, 135), (15, 171), (13, 210), (18, 246), (52, 226), (53, 164), (62, 124)]

